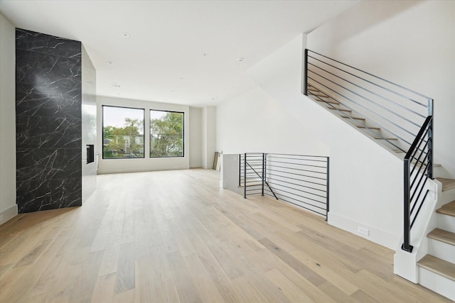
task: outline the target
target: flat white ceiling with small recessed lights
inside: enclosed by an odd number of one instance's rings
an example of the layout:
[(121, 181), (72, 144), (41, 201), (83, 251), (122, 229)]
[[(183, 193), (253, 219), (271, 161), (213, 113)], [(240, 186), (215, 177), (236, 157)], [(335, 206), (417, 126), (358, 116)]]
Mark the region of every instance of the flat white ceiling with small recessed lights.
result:
[(1, 0), (0, 11), (18, 28), (82, 41), (97, 94), (205, 106), (252, 89), (245, 70), (356, 2)]

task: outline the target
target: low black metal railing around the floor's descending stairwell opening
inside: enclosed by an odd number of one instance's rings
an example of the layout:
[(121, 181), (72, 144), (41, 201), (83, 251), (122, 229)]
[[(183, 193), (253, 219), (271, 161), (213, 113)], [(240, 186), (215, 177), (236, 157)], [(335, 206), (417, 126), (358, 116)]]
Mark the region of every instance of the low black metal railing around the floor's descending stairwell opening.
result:
[(329, 158), (277, 153), (240, 154), (239, 186), (244, 197), (269, 195), (327, 218)]

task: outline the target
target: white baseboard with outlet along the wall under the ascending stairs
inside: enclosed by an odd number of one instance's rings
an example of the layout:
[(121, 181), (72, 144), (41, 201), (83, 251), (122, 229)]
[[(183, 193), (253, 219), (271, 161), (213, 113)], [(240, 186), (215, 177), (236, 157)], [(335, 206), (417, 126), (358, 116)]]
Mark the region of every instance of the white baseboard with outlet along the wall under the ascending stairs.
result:
[[(378, 243), (392, 250), (397, 249), (398, 243), (400, 242), (401, 238), (401, 235), (396, 235), (394, 233), (390, 233), (388, 231), (383, 231), (379, 228), (375, 228), (374, 226), (369, 226), (368, 224), (354, 221), (352, 219), (346, 218), (345, 216), (333, 213), (333, 211), (328, 212), (327, 223), (332, 226), (341, 228), (345, 231), (349, 231), (350, 233), (353, 233), (356, 236), (360, 236), (374, 243)], [(366, 236), (362, 233), (359, 233), (358, 232), (359, 226), (367, 228), (369, 231), (369, 235)]]

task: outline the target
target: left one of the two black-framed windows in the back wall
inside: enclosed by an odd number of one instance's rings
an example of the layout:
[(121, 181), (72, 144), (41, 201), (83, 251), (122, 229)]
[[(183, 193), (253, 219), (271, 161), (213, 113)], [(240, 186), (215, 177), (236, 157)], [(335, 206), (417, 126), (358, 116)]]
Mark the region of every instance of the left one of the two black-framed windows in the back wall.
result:
[(144, 158), (144, 109), (102, 106), (102, 158)]

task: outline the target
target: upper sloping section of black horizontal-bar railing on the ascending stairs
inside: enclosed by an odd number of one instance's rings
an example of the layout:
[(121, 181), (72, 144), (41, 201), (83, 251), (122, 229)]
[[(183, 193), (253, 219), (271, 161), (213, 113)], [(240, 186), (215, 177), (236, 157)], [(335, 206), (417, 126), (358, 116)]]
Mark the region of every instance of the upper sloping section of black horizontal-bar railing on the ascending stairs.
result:
[(327, 102), (332, 109), (349, 109), (352, 116), (368, 121), (361, 123), (348, 115), (353, 123), (361, 124), (396, 150), (407, 152), (424, 119), (432, 112), (431, 98), (325, 55), (311, 50), (305, 53), (304, 94), (311, 95), (308, 85), (316, 87), (340, 104)]

